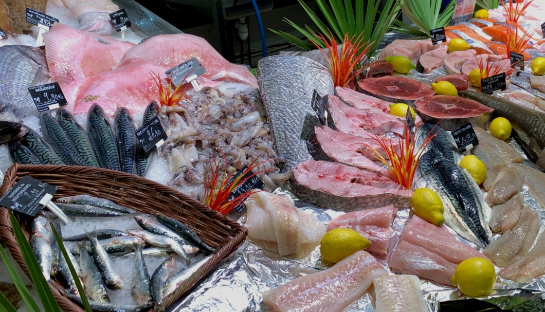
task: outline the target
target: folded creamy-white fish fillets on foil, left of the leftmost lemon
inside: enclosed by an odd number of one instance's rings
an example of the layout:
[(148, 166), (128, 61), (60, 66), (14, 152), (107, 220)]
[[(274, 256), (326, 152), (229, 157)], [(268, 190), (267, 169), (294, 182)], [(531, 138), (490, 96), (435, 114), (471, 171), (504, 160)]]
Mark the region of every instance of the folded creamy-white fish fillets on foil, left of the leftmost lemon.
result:
[(248, 238), (278, 255), (300, 255), (325, 235), (324, 225), (310, 212), (296, 208), (289, 198), (267, 192), (245, 202)]

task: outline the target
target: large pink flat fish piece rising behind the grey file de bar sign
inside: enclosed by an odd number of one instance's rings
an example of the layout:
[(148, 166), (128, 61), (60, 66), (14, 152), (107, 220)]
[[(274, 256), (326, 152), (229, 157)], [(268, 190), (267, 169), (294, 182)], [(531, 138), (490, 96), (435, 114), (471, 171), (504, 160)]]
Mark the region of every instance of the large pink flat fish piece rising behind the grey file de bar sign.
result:
[(168, 70), (193, 57), (206, 70), (200, 77), (244, 83), (257, 88), (257, 79), (249, 70), (242, 65), (229, 63), (206, 40), (190, 34), (153, 36), (127, 51), (122, 64), (132, 58), (140, 58)]

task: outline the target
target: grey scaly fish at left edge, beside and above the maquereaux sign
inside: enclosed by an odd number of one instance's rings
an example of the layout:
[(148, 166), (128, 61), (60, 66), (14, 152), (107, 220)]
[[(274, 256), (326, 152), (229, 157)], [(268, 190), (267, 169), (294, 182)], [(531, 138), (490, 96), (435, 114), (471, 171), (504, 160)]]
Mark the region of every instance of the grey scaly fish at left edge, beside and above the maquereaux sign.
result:
[(37, 114), (28, 88), (49, 81), (44, 52), (31, 46), (1, 46), (0, 81), (0, 120), (21, 121)]

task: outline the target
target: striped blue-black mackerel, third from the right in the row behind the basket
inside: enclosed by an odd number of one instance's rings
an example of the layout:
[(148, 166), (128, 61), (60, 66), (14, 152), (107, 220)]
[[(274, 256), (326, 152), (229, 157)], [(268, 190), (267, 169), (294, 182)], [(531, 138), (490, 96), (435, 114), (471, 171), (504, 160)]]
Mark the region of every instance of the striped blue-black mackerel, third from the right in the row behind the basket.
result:
[(93, 104), (89, 108), (87, 120), (87, 132), (89, 134), (93, 150), (98, 156), (100, 167), (120, 170), (120, 160), (116, 144), (116, 138), (113, 136), (110, 121), (106, 118), (104, 110)]

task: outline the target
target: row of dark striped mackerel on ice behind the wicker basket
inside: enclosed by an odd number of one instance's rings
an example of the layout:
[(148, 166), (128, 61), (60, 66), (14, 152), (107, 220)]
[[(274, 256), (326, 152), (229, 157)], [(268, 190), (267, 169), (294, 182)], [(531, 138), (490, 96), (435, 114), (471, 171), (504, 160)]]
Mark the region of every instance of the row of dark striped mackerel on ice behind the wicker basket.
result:
[[(153, 119), (158, 112), (157, 103), (150, 103), (142, 123)], [(140, 176), (146, 174), (148, 156), (140, 148), (128, 109), (117, 110), (113, 129), (102, 108), (91, 106), (87, 132), (66, 109), (59, 109), (56, 114), (56, 117), (49, 113), (40, 115), (44, 138), (29, 127), (2, 122), (0, 144), (8, 142), (13, 162), (102, 167)]]

